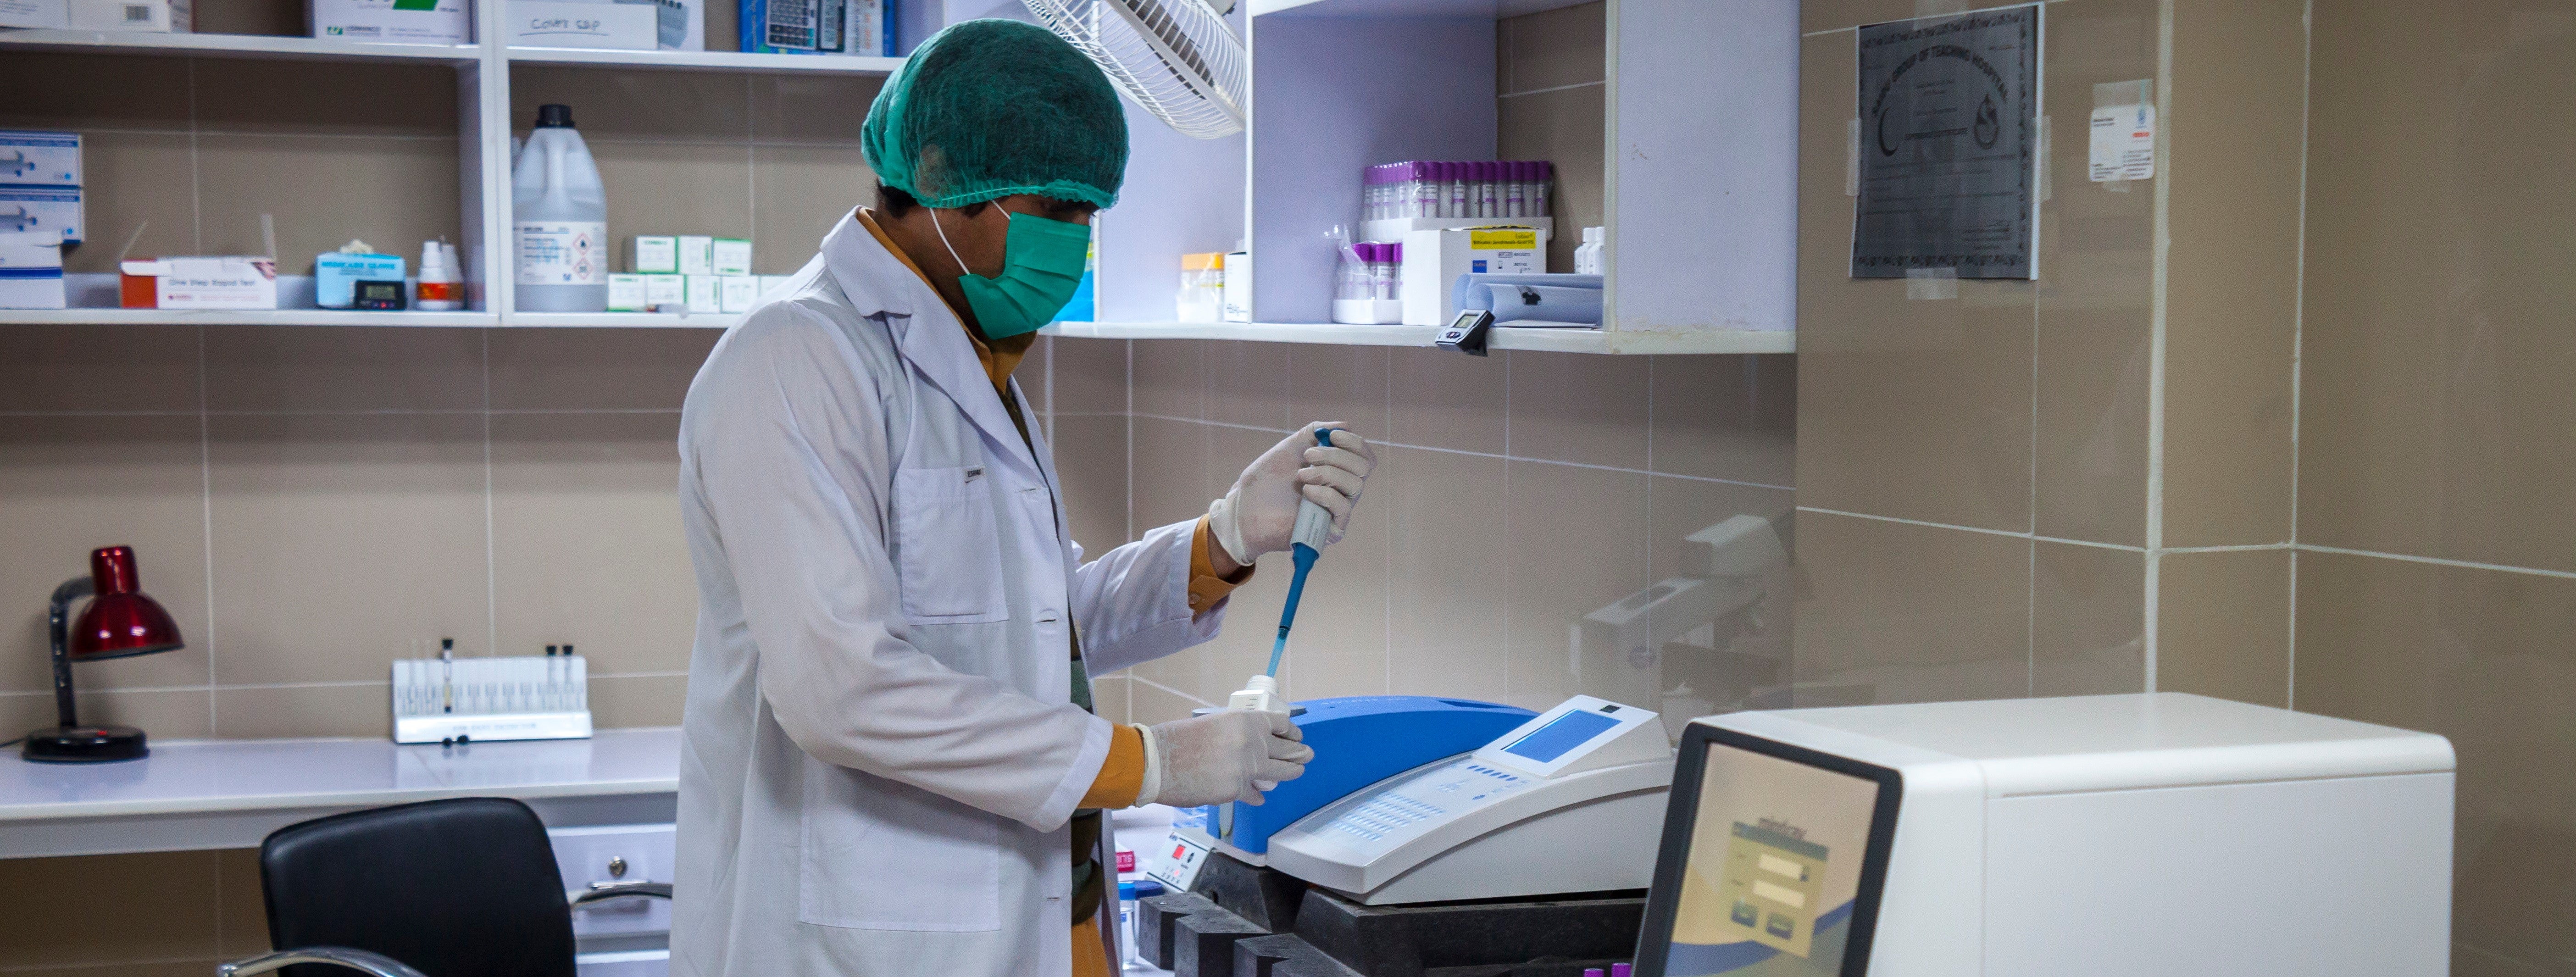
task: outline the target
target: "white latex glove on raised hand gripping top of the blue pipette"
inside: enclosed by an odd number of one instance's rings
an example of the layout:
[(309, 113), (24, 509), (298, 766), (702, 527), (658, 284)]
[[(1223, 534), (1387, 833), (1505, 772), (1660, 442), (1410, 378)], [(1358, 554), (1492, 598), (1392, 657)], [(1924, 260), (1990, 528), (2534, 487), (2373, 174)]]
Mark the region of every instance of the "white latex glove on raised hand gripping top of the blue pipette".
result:
[(1350, 430), (1334, 430), (1327, 449), (1314, 443), (1316, 428), (1342, 428), (1342, 423), (1316, 420), (1298, 428), (1252, 459), (1226, 498), (1208, 503), (1208, 531), (1234, 562), (1249, 567), (1260, 554), (1288, 549), (1301, 498), (1332, 513), (1327, 544), (1350, 528), (1350, 508), (1360, 503), (1360, 485), (1368, 482), (1368, 469), (1378, 467), (1378, 451)]

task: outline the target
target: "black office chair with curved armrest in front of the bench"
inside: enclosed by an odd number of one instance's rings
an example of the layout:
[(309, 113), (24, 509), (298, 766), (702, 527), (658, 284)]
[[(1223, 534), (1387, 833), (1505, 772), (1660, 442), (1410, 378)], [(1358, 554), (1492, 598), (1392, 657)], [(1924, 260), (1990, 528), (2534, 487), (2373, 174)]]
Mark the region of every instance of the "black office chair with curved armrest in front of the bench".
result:
[[(260, 843), (268, 946), (219, 977), (572, 977), (572, 910), (670, 882), (564, 892), (546, 825), (505, 797), (317, 817)], [(332, 964), (332, 967), (322, 967)], [(340, 974), (345, 977), (345, 974)]]

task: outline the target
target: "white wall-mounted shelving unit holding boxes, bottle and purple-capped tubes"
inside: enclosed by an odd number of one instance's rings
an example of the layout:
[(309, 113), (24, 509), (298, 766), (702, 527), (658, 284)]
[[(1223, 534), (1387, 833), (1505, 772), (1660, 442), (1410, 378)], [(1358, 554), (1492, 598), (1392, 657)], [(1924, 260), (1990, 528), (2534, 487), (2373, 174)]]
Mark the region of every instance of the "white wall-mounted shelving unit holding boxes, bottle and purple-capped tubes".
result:
[[(724, 0), (714, 0), (724, 3)], [(1247, 134), (1188, 139), (1128, 108), (1121, 204), (1100, 219), (1100, 322), (1054, 335), (1430, 345), (1435, 327), (1329, 325), (1329, 224), (1358, 224), (1360, 170), (1497, 155), (1494, 21), (1566, 0), (1249, 0)], [(917, 44), (1015, 3), (914, 0)], [(477, 5), (502, 36), (505, 3)], [(296, 36), (0, 31), (0, 52), (438, 59), (456, 67), (471, 312), (0, 312), (0, 322), (278, 322), (497, 327), (724, 327), (729, 314), (515, 312), (507, 266), (510, 67), (889, 75), (894, 57), (348, 44)], [(1795, 348), (1795, 0), (1607, 0), (1607, 325), (1494, 330), (1492, 348), (1788, 353)], [(616, 229), (613, 229), (616, 232)], [(1561, 227), (1571, 235), (1574, 227)], [(1255, 253), (1257, 322), (1172, 322), (1180, 255)]]

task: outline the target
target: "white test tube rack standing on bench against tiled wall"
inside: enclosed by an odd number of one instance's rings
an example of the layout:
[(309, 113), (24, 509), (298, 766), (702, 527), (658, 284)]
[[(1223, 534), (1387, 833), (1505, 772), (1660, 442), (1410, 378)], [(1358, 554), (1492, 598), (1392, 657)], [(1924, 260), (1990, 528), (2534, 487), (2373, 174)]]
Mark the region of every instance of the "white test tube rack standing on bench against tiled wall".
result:
[(580, 655), (394, 660), (394, 742), (587, 737)]

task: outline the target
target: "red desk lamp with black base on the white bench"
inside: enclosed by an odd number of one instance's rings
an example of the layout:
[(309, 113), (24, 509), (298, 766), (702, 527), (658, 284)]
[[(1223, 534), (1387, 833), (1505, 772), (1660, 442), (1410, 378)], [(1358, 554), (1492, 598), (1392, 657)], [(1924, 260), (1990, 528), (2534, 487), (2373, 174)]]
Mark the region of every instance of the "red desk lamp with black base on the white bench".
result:
[[(64, 626), (72, 601), (98, 595), (80, 608), (80, 624)], [(59, 727), (26, 735), (26, 758), (39, 763), (106, 763), (139, 760), (144, 732), (134, 727), (82, 727), (72, 704), (72, 663), (98, 663), (185, 647), (170, 611), (142, 593), (134, 577), (134, 547), (108, 547), (90, 552), (90, 575), (64, 580), (54, 588), (54, 606), (46, 614), (54, 637), (54, 711)]]

